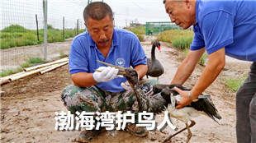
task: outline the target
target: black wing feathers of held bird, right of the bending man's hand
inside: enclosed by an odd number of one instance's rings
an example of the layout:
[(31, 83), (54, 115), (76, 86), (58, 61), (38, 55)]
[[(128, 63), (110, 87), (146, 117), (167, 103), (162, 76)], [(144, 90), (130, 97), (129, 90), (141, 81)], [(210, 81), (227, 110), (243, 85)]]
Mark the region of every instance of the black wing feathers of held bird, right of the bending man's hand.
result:
[[(216, 118), (221, 119), (220, 114), (217, 113), (217, 109), (215, 105), (212, 103), (211, 99), (198, 99), (197, 102), (192, 102), (191, 106), (195, 108), (197, 111), (203, 111), (206, 113), (210, 118), (212, 118), (215, 122)], [(219, 122), (218, 122), (219, 123)]]

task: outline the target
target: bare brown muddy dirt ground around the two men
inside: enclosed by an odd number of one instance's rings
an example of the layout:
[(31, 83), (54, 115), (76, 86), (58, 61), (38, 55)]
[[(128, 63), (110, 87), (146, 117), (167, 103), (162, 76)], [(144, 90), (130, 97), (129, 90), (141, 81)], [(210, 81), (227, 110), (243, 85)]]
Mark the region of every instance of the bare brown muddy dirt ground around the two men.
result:
[[(147, 56), (150, 55), (154, 37), (146, 37), (141, 44)], [(69, 45), (66, 41), (61, 45)], [(171, 44), (161, 43), (162, 51), (156, 51), (156, 58), (164, 66), (164, 75), (159, 82), (169, 84), (178, 65), (183, 60), (183, 53)], [(54, 47), (53, 47), (54, 48)], [(69, 49), (69, 48), (68, 48)], [(58, 51), (58, 50), (56, 50)], [(227, 58), (225, 69), (218, 79), (204, 92), (211, 95), (222, 119), (220, 124), (201, 115), (194, 118), (197, 124), (191, 128), (190, 142), (236, 142), (235, 139), (235, 92), (229, 90), (221, 79), (247, 75), (249, 62), (238, 62)], [(197, 66), (185, 86), (192, 88), (204, 67)], [(55, 112), (67, 112), (60, 94), (66, 85), (72, 84), (68, 65), (44, 75), (28, 76), (7, 85), (2, 85), (1, 95), (1, 142), (73, 142), (80, 131), (55, 131)], [(161, 123), (164, 114), (156, 116)], [(178, 128), (185, 127), (183, 122), (172, 119)], [(105, 131), (92, 142), (161, 142), (175, 131), (166, 127), (164, 131), (150, 131), (149, 136), (139, 138), (126, 131)], [(185, 142), (187, 131), (173, 137), (170, 142)]]

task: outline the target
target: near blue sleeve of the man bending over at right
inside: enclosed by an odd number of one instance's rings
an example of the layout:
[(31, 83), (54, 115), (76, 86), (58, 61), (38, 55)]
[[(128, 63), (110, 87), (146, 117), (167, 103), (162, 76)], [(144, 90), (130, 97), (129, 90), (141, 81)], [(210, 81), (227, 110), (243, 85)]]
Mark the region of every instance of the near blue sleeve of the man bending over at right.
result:
[(206, 51), (214, 53), (233, 43), (234, 16), (224, 11), (211, 12), (201, 21)]

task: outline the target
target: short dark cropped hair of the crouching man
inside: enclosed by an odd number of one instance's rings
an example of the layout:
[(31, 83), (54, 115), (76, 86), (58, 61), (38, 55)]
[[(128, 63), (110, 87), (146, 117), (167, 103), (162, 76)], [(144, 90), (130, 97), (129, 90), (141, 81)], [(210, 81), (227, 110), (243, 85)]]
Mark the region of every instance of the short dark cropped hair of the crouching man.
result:
[(87, 23), (89, 17), (94, 20), (102, 20), (107, 15), (113, 18), (111, 7), (105, 2), (92, 2), (83, 10), (83, 19), (85, 23)]

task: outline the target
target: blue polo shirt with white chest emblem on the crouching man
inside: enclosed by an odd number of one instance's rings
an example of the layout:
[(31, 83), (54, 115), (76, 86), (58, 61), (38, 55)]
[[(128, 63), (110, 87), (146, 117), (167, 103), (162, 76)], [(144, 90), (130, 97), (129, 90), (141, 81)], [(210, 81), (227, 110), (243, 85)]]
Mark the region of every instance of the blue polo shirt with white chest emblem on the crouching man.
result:
[[(104, 58), (88, 32), (77, 35), (72, 41), (69, 53), (70, 74), (77, 72), (92, 73), (98, 67), (106, 67), (106, 65), (96, 60), (119, 67), (136, 67), (147, 64), (145, 52), (136, 35), (127, 30), (114, 29), (112, 40), (111, 49), (107, 58)], [(109, 82), (98, 83), (96, 86), (102, 90), (116, 93), (124, 90), (121, 87), (121, 82), (125, 81), (125, 77), (118, 77)]]

